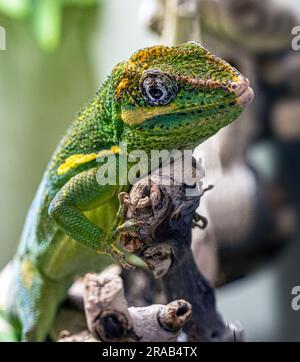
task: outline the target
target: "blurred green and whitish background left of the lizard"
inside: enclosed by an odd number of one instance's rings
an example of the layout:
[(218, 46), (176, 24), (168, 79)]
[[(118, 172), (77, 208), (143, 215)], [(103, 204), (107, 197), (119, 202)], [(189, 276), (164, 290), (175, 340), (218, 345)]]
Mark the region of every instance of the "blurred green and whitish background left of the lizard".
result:
[(139, 0), (74, 3), (63, 9), (52, 51), (28, 19), (0, 11), (7, 48), (0, 51), (0, 268), (15, 252), (42, 173), (75, 114), (117, 62), (158, 42), (137, 30)]

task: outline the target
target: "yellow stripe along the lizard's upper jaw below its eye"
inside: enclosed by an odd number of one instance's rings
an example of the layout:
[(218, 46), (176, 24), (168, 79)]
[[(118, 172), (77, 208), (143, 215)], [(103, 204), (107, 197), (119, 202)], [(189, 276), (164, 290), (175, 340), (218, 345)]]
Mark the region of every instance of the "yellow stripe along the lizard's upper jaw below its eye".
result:
[(130, 125), (141, 124), (150, 118), (174, 112), (173, 106), (138, 108), (135, 110), (122, 110), (122, 120)]

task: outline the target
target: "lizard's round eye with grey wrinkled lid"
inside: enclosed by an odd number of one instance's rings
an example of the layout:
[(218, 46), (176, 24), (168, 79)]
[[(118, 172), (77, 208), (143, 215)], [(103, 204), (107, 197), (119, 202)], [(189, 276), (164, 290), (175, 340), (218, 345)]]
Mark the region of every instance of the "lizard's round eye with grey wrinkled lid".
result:
[(143, 98), (153, 106), (170, 103), (178, 91), (177, 84), (170, 75), (156, 69), (146, 71), (140, 84)]

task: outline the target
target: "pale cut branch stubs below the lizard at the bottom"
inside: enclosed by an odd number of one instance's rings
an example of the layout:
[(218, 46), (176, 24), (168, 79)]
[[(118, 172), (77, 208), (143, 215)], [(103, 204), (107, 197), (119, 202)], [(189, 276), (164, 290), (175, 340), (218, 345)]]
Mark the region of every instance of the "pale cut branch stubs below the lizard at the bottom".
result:
[(118, 275), (87, 274), (83, 288), (88, 330), (74, 335), (63, 331), (60, 341), (176, 341), (191, 316), (191, 305), (184, 300), (128, 308)]

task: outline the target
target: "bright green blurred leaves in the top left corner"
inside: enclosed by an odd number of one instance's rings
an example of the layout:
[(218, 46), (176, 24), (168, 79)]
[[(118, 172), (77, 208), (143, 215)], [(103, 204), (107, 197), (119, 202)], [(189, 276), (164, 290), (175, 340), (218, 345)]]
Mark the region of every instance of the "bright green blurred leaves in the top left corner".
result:
[(99, 0), (0, 0), (0, 13), (24, 20), (39, 46), (51, 52), (61, 44), (64, 8), (94, 6), (98, 2)]

